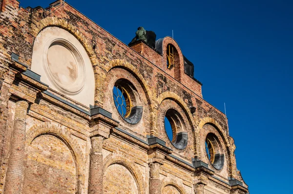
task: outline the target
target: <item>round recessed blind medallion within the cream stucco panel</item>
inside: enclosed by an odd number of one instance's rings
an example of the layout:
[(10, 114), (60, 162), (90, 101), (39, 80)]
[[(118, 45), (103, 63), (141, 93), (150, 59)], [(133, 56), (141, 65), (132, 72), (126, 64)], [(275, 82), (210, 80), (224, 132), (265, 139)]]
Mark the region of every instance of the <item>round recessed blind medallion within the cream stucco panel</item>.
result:
[(84, 87), (84, 62), (75, 47), (65, 39), (49, 40), (43, 53), (45, 72), (54, 86), (67, 95)]

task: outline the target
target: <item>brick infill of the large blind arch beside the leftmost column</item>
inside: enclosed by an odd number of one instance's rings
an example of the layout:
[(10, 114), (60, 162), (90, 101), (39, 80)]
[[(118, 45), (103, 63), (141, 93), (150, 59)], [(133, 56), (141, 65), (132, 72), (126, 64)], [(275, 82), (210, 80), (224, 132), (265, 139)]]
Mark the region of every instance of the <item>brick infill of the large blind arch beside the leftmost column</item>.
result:
[(27, 147), (22, 194), (75, 194), (76, 173), (74, 156), (60, 138), (38, 136)]

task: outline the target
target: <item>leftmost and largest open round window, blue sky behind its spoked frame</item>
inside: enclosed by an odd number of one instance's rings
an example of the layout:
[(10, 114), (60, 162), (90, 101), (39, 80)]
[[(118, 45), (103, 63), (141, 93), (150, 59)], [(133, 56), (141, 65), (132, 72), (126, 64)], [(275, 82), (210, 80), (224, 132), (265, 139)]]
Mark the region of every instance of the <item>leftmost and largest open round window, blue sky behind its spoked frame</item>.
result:
[(114, 104), (120, 116), (130, 124), (137, 124), (143, 114), (143, 107), (137, 105), (138, 93), (126, 79), (119, 79), (113, 87)]

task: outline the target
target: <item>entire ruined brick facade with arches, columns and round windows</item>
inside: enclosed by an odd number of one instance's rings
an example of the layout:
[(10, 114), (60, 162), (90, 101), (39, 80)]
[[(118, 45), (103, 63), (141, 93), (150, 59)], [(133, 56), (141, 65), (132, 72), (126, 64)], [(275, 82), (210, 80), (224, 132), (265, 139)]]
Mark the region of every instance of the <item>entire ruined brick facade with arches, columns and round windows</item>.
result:
[(170, 37), (127, 46), (63, 1), (0, 0), (0, 194), (248, 193), (187, 61)]

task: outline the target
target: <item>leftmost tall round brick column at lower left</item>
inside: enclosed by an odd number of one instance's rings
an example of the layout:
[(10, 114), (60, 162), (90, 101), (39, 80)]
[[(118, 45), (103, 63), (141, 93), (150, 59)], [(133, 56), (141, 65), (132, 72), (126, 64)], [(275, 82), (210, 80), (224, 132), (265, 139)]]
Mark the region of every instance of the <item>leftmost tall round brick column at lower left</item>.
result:
[(10, 155), (4, 186), (5, 194), (21, 194), (27, 108), (28, 103), (26, 101), (16, 102), (14, 125), (10, 141)]

